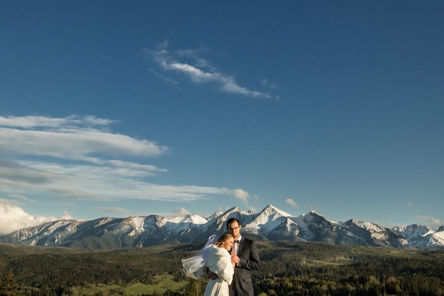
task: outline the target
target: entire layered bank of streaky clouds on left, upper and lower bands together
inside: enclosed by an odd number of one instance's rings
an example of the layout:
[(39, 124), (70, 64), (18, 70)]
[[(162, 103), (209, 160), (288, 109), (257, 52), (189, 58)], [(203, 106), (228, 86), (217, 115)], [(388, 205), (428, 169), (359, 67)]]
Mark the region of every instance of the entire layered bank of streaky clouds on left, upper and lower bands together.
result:
[(72, 199), (184, 202), (212, 195), (247, 203), (249, 193), (240, 188), (149, 182), (150, 176), (168, 170), (139, 160), (166, 154), (169, 148), (112, 133), (116, 122), (77, 115), (0, 117), (0, 192), (15, 205), (36, 202), (41, 195), (66, 200), (67, 206), (73, 206)]

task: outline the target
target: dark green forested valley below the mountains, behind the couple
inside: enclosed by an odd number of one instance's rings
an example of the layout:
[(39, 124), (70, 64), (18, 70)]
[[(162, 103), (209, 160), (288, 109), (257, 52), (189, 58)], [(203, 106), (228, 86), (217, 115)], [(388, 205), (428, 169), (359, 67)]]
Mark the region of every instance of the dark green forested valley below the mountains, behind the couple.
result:
[[(187, 278), (181, 266), (181, 259), (191, 257), (202, 246), (165, 245), (111, 252), (42, 248), (32, 252), (28, 248), (11, 254), (0, 245), (0, 276), (6, 277), (12, 270), (19, 294), (76, 295), (77, 288), (91, 284), (151, 284), (154, 275), (169, 273), (189, 284), (183, 291), (164, 295), (195, 296), (197, 291), (203, 295), (207, 279)], [(443, 250), (294, 242), (258, 242), (258, 248), (262, 267), (252, 272), (255, 295), (444, 295)]]

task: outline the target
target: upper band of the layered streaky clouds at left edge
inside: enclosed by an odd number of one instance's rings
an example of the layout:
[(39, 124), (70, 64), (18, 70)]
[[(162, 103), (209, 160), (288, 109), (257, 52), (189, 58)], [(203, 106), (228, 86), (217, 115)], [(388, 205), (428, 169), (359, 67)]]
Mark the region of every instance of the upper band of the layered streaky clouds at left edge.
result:
[(77, 115), (64, 118), (0, 117), (0, 153), (52, 156), (115, 167), (166, 171), (152, 165), (93, 157), (94, 154), (149, 157), (168, 151), (168, 147), (154, 141), (111, 133), (107, 129), (113, 122), (115, 121), (95, 116)]

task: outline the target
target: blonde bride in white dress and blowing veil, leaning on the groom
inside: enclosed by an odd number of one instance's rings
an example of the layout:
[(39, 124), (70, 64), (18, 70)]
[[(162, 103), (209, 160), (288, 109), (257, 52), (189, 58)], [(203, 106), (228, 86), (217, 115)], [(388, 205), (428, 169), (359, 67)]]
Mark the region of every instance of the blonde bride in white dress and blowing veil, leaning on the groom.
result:
[(229, 233), (210, 236), (207, 244), (197, 256), (182, 259), (184, 272), (187, 276), (198, 279), (204, 274), (205, 267), (219, 277), (210, 280), (205, 288), (204, 296), (228, 296), (228, 285), (231, 284), (234, 274), (234, 263), (231, 262), (229, 251), (233, 247), (234, 237)]

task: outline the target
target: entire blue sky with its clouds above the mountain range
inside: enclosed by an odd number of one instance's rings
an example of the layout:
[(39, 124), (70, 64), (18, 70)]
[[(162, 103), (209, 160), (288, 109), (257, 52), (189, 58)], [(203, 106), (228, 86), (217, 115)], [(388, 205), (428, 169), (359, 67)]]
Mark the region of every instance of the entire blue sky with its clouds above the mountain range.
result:
[(436, 230), (443, 8), (5, 2), (3, 224), (271, 203)]

